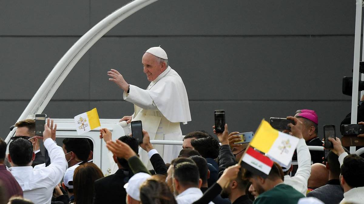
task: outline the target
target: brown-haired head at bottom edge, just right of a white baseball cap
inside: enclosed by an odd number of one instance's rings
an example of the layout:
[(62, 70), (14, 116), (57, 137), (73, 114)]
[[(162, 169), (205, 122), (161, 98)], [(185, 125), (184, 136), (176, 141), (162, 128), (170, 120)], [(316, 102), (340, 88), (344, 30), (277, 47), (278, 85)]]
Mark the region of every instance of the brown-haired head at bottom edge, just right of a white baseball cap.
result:
[(177, 204), (165, 177), (160, 175), (152, 176), (141, 185), (140, 201), (142, 204)]

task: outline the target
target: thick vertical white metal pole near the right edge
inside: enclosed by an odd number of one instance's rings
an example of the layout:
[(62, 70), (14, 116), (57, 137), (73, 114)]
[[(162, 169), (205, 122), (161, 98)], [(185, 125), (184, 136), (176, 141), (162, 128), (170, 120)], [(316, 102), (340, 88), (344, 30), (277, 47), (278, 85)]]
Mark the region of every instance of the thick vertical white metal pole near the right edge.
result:
[[(363, 0), (356, 0), (355, 14), (355, 38), (354, 38), (354, 65), (353, 65), (353, 91), (351, 98), (351, 124), (357, 123), (358, 91), (359, 91), (359, 61), (360, 61), (360, 39), (361, 39), (361, 7)], [(350, 147), (350, 153), (354, 154), (356, 148)]]

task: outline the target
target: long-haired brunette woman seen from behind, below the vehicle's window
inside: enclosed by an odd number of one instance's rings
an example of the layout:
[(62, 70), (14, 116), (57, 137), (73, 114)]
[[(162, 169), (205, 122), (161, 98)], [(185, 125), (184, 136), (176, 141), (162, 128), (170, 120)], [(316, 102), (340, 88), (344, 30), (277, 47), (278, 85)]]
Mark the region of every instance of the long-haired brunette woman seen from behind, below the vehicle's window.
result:
[(95, 180), (103, 178), (102, 171), (94, 163), (84, 163), (73, 175), (74, 204), (90, 204), (94, 199)]

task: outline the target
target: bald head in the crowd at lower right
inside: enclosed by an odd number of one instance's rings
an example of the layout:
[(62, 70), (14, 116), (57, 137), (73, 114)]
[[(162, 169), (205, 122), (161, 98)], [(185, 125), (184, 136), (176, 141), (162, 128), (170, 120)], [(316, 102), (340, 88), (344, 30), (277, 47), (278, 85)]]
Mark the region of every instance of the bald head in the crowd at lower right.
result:
[(326, 166), (321, 163), (315, 163), (311, 166), (311, 175), (308, 179), (309, 188), (318, 188), (327, 183), (329, 180), (329, 171)]

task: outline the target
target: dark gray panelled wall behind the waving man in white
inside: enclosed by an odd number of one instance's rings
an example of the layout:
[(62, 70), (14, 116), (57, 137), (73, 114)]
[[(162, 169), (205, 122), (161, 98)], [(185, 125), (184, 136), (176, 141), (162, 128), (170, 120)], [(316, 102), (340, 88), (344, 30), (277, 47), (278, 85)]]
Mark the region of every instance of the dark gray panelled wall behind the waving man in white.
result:
[[(1, 138), (44, 78), (88, 29), (129, 0), (0, 0)], [(182, 77), (192, 121), (183, 134), (212, 132), (214, 110), (230, 131), (255, 131), (262, 118), (313, 109), (337, 127), (351, 110), (341, 93), (352, 76), (355, 1), (159, 0), (122, 21), (78, 62), (44, 113), (100, 118), (133, 113), (107, 70), (147, 87), (141, 57), (161, 45)]]

